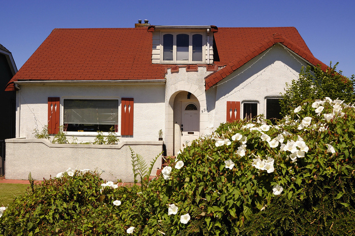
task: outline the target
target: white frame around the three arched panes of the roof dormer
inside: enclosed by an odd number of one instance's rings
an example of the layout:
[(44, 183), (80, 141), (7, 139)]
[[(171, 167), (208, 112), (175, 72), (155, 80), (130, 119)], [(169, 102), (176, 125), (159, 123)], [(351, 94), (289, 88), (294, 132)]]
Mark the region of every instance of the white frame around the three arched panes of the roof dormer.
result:
[[(172, 35), (173, 44), (172, 44), (172, 60), (164, 60), (164, 35)], [(188, 60), (178, 60), (177, 59), (177, 46), (176, 46), (176, 36), (180, 34), (185, 34), (189, 36), (189, 59)], [(194, 35), (202, 36), (202, 60), (193, 61), (192, 52), (193, 44), (192, 39)], [(165, 64), (204, 64), (205, 63), (205, 54), (206, 54), (206, 42), (205, 42), (205, 33), (204, 31), (162, 31), (160, 37), (160, 62)]]

